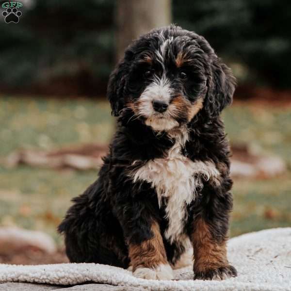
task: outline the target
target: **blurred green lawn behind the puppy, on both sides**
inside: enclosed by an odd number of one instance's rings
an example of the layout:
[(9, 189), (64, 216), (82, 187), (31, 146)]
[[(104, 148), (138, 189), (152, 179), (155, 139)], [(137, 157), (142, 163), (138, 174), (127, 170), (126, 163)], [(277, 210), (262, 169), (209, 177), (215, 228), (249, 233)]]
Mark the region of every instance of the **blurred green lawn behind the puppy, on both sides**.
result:
[[(249, 103), (248, 103), (249, 104)], [(233, 105), (223, 114), (232, 143), (275, 154), (291, 165), (291, 108)], [(0, 97), (0, 155), (19, 148), (110, 141), (114, 120), (106, 100)], [(70, 199), (97, 177), (96, 171), (0, 167), (0, 225), (55, 228)], [(291, 226), (291, 171), (268, 180), (236, 179), (231, 236), (268, 227)]]

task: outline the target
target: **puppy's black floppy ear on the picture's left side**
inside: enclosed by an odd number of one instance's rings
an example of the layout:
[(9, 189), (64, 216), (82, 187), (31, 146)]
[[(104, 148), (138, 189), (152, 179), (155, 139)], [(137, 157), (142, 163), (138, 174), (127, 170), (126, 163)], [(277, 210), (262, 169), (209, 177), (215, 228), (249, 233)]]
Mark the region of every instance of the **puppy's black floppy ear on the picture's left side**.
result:
[(127, 66), (122, 59), (110, 74), (107, 86), (107, 98), (111, 104), (113, 116), (119, 116), (124, 108), (124, 88), (127, 78)]

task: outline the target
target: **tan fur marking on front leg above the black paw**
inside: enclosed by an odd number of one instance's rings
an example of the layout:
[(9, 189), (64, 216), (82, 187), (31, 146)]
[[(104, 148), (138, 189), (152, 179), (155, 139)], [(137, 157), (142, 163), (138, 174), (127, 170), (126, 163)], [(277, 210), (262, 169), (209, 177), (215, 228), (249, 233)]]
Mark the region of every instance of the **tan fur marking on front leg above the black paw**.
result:
[(195, 222), (191, 236), (194, 248), (194, 272), (205, 272), (219, 267), (226, 267), (226, 240), (213, 241), (209, 226), (199, 219)]

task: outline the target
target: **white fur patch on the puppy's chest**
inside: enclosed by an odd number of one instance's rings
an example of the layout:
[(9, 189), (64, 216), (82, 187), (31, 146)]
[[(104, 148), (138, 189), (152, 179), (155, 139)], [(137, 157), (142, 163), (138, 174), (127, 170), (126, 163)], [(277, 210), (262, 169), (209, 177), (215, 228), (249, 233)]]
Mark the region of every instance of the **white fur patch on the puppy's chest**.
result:
[(217, 181), (220, 175), (213, 162), (193, 162), (180, 153), (188, 138), (186, 131), (176, 133), (175, 138), (176, 143), (166, 158), (146, 162), (133, 173), (134, 181), (151, 183), (160, 206), (162, 197), (167, 198), (165, 211), (169, 225), (165, 237), (170, 242), (181, 237), (187, 219), (186, 207), (195, 199), (197, 189), (203, 187), (202, 178)]

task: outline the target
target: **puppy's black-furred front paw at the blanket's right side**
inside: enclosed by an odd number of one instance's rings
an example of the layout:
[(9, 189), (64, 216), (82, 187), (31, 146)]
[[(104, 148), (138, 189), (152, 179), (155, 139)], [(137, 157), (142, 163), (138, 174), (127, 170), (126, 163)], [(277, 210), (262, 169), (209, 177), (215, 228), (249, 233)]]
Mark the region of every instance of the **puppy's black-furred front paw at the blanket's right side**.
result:
[(225, 280), (227, 278), (236, 277), (237, 275), (235, 267), (228, 265), (205, 272), (194, 271), (194, 280)]

